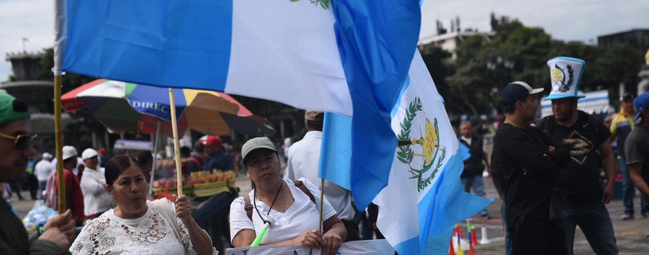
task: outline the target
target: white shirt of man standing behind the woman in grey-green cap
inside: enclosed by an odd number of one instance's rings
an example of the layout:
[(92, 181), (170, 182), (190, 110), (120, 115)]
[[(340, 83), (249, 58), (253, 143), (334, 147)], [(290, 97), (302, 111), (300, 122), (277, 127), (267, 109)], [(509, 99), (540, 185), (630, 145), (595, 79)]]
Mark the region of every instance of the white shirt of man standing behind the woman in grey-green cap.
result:
[[(320, 146), (323, 140), (321, 131), (308, 131), (302, 140), (295, 142), (288, 153), (288, 162), (284, 170), (284, 178), (295, 180), (305, 177), (320, 189), (318, 170), (320, 164)], [(340, 219), (350, 221), (356, 212), (352, 207), (352, 192), (345, 190), (336, 183), (324, 181), (324, 197), (334, 206)]]

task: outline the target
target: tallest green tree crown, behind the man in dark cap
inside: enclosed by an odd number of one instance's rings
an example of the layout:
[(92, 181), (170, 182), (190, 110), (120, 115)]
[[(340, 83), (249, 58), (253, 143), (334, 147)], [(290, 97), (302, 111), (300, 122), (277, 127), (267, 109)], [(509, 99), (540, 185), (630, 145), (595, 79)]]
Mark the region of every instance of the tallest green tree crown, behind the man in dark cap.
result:
[(538, 86), (543, 80), (550, 35), (543, 28), (502, 20), (493, 38), (467, 38), (456, 49), (457, 71), (448, 83), (452, 94), (465, 104), (465, 113), (488, 114), (500, 107), (500, 91), (509, 82), (523, 80)]

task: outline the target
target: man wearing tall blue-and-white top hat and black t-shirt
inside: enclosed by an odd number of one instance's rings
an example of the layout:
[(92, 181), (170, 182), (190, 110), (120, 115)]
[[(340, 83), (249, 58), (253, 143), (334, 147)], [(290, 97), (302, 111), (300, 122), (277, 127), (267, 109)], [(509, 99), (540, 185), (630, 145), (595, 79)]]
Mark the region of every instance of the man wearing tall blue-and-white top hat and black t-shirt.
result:
[[(545, 100), (552, 100), (553, 115), (543, 118), (537, 128), (570, 150), (570, 162), (557, 177), (569, 252), (572, 253), (574, 232), (579, 226), (596, 254), (617, 254), (613, 224), (604, 206), (613, 197), (617, 172), (611, 133), (602, 122), (577, 109), (577, 100), (584, 97), (577, 89), (585, 61), (557, 57), (549, 60), (548, 66), (552, 92)], [(602, 159), (607, 179), (604, 189), (600, 184)]]

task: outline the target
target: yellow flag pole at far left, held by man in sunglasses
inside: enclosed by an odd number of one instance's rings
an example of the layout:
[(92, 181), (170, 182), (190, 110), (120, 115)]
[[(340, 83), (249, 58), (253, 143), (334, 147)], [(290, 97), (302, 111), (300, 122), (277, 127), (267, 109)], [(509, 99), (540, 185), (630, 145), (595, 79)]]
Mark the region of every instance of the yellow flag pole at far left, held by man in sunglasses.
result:
[(66, 212), (66, 180), (63, 175), (63, 133), (61, 131), (61, 76), (54, 76), (54, 135), (56, 177), (58, 178), (58, 214)]

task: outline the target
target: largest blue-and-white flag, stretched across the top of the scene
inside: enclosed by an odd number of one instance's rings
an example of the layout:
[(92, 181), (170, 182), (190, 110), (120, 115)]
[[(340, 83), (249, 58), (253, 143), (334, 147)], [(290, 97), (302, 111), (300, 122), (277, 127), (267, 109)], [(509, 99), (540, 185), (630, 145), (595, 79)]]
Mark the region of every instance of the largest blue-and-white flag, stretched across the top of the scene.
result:
[(375, 195), (393, 161), (390, 111), (419, 39), (419, 4), (58, 0), (54, 71), (353, 115), (354, 155), (373, 160), (351, 163), (365, 177), (352, 187)]

